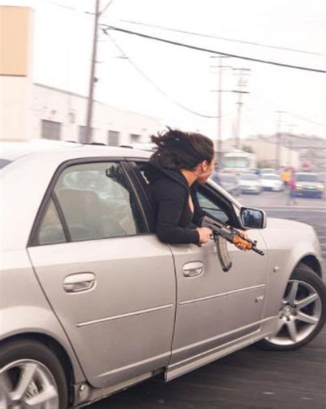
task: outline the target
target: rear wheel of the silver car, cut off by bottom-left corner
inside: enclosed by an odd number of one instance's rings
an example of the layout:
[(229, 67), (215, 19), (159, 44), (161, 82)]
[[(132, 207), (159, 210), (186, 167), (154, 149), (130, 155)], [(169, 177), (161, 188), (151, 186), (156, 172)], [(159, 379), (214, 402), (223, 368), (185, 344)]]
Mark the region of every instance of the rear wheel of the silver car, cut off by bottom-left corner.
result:
[[(9, 383), (8, 388), (13, 388), (16, 397), (14, 402), (8, 403), (8, 393), (1, 384), (1, 408), (11, 408), (11, 404), (16, 407), (14, 403), (20, 407), (19, 402), (32, 405), (33, 399), (34, 402), (45, 399), (50, 408), (67, 409), (68, 388), (63, 367), (54, 352), (41, 342), (26, 339), (4, 342), (0, 346), (0, 374), (4, 373)], [(20, 389), (19, 384), (23, 384)]]

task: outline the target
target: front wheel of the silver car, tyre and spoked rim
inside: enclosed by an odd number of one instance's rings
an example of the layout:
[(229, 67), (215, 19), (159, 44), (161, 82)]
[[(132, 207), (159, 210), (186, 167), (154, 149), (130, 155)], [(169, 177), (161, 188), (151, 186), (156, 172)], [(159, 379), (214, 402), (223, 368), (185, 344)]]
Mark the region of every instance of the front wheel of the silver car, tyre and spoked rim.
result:
[[(290, 314), (292, 307), (285, 304), (285, 300), (289, 298), (289, 291), (298, 283), (294, 300), (296, 308), (294, 316)], [(301, 291), (301, 294), (300, 294)], [(307, 293), (305, 293), (307, 291)], [(298, 300), (296, 299), (298, 296)], [(300, 297), (303, 295), (303, 297)], [(310, 302), (304, 307), (300, 306), (300, 301), (303, 298), (316, 297), (316, 300)], [(303, 304), (303, 303), (301, 303)], [(286, 315), (284, 316), (284, 313)], [(287, 319), (289, 318), (289, 321)], [(304, 322), (301, 319), (310, 321)], [(257, 346), (265, 350), (294, 350), (312, 341), (320, 332), (325, 324), (326, 319), (326, 289), (325, 284), (320, 277), (305, 264), (298, 264), (292, 273), (285, 294), (279, 315), (278, 329), (274, 335), (266, 337), (257, 343)], [(294, 323), (294, 324), (293, 324)], [(294, 325), (294, 326), (293, 326)], [(297, 335), (297, 341), (290, 335), (290, 326), (294, 329), (294, 334)], [(299, 332), (301, 331), (301, 332)], [(291, 339), (292, 338), (292, 339)], [(295, 337), (294, 337), (295, 338)]]

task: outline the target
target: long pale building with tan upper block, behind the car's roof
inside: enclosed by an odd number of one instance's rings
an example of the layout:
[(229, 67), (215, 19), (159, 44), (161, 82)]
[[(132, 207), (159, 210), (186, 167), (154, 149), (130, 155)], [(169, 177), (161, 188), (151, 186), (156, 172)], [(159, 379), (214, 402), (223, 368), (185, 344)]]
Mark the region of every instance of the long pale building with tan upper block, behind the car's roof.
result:
[[(0, 6), (0, 139), (85, 142), (87, 98), (32, 82), (33, 11)], [(160, 119), (94, 101), (92, 141), (148, 142)]]

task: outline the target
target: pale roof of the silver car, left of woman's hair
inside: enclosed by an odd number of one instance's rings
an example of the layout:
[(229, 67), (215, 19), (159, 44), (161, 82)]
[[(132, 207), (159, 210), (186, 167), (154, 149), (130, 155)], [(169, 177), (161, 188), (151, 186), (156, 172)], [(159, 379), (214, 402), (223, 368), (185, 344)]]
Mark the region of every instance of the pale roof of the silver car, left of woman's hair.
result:
[(31, 154), (62, 153), (63, 156), (116, 156), (149, 158), (151, 152), (132, 147), (112, 147), (102, 144), (81, 144), (63, 140), (29, 140), (26, 142), (1, 142), (0, 156), (6, 160), (16, 160)]

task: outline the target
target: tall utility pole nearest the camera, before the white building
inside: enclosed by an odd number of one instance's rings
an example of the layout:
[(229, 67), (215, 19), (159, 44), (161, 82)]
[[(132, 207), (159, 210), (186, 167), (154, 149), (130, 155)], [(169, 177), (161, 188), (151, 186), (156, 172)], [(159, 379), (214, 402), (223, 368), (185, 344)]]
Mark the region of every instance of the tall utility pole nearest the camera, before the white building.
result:
[(86, 143), (91, 142), (91, 120), (93, 118), (94, 84), (96, 82), (95, 67), (96, 67), (96, 54), (97, 54), (97, 45), (98, 45), (98, 19), (100, 17), (100, 0), (96, 0), (94, 17), (95, 18), (94, 18), (93, 50), (91, 53), (91, 73), (89, 76), (87, 118), (86, 118), (86, 127), (85, 127)]

